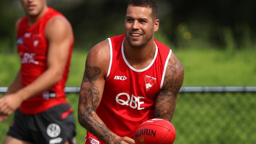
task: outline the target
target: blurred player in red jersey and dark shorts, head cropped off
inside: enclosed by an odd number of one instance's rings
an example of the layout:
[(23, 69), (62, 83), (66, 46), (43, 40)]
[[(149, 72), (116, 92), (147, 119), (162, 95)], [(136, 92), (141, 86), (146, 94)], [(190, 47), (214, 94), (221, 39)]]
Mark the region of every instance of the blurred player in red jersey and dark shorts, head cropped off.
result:
[(46, 0), (20, 0), (21, 68), (0, 99), (0, 121), (15, 111), (4, 144), (73, 144), (75, 123), (65, 100), (74, 36), (69, 21)]

